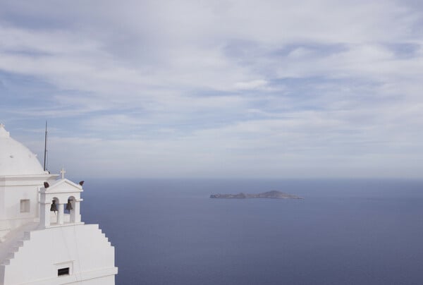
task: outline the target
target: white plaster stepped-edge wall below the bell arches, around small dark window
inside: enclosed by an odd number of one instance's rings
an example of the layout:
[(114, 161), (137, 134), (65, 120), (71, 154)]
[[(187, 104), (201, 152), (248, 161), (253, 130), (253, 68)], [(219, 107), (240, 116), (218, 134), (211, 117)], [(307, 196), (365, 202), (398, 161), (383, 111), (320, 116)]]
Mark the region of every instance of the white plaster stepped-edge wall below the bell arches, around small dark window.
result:
[[(22, 245), (16, 246), (9, 264), (1, 265), (4, 284), (114, 284), (114, 247), (97, 224), (56, 226), (26, 233), (26, 239), (17, 240)], [(69, 266), (71, 274), (57, 276), (59, 268)], [(113, 283), (94, 281), (99, 277), (113, 277)]]

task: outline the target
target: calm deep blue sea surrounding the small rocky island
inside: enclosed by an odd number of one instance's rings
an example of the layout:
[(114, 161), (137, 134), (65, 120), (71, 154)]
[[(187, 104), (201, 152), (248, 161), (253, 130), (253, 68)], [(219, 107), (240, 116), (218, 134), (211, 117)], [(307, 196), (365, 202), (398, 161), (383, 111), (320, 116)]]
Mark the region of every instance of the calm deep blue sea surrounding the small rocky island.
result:
[[(86, 181), (117, 285), (423, 284), (423, 181)], [(210, 199), (281, 190), (304, 200)]]

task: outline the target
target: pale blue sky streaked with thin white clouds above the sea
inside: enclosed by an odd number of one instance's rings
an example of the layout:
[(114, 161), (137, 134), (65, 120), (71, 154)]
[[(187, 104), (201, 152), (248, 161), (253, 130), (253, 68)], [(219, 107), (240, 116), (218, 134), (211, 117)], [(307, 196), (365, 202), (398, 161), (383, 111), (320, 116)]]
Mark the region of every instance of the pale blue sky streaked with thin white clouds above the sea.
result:
[(0, 123), (114, 178), (421, 178), (421, 1), (0, 1)]

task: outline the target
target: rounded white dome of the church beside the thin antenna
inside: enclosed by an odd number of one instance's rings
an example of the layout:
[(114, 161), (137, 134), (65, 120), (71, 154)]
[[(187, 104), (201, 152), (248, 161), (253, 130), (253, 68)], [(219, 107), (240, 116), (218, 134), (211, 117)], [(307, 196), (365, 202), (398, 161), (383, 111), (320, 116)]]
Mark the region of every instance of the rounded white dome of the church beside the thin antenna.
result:
[(37, 155), (13, 140), (0, 124), (0, 176), (45, 174)]

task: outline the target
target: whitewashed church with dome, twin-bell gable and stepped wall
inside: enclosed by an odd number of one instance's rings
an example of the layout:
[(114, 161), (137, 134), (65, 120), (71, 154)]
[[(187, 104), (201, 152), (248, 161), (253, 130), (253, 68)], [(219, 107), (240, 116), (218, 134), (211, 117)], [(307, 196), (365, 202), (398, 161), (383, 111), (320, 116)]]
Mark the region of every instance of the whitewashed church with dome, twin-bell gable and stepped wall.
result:
[(114, 247), (81, 222), (83, 183), (44, 171), (0, 124), (0, 285), (115, 283)]

